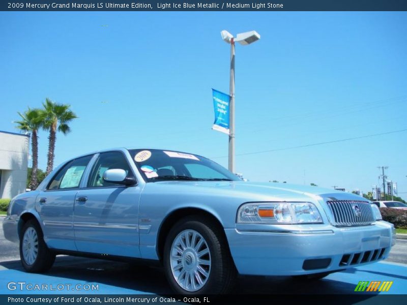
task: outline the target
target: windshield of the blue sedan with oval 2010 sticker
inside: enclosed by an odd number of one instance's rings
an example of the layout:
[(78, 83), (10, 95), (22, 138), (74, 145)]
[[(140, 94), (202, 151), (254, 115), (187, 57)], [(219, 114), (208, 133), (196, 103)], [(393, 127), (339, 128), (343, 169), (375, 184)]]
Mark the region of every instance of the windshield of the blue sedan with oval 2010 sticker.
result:
[(129, 153), (148, 182), (241, 180), (221, 165), (197, 155), (159, 149), (129, 149)]

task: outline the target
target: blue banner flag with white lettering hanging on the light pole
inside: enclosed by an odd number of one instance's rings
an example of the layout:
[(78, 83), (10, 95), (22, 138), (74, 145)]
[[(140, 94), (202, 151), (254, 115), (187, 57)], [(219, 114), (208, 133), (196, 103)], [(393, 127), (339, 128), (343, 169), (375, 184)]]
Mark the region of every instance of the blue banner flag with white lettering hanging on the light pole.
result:
[(230, 96), (218, 90), (212, 89), (215, 121), (212, 129), (229, 134), (229, 103)]

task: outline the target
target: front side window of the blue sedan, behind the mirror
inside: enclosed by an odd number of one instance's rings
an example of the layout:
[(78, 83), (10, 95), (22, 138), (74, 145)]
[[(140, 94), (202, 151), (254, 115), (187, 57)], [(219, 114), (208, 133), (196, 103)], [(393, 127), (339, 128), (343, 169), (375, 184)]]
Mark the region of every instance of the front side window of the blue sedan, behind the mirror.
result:
[(110, 151), (100, 154), (88, 181), (89, 188), (121, 186), (103, 180), (103, 173), (108, 169), (124, 169), (127, 175), (133, 176), (126, 157), (120, 151)]

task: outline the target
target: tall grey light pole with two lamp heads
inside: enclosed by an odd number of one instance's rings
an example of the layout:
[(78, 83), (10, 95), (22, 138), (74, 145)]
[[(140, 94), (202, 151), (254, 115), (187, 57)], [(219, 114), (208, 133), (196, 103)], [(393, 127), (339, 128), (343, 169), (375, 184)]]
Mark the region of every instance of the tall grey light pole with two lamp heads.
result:
[(235, 173), (235, 42), (248, 45), (260, 39), (256, 31), (240, 33), (234, 38), (229, 32), (221, 31), (222, 39), (230, 44), (230, 83), (229, 83), (229, 161), (228, 168)]

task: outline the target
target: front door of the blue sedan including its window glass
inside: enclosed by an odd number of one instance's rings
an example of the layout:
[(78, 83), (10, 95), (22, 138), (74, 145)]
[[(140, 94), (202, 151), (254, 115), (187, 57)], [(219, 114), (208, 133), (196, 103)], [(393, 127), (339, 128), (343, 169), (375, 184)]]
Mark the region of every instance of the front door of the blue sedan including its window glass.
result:
[(76, 247), (82, 252), (140, 257), (140, 188), (104, 181), (107, 169), (124, 169), (129, 177), (134, 177), (122, 151), (99, 155), (86, 188), (76, 194), (73, 217)]

